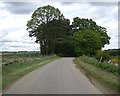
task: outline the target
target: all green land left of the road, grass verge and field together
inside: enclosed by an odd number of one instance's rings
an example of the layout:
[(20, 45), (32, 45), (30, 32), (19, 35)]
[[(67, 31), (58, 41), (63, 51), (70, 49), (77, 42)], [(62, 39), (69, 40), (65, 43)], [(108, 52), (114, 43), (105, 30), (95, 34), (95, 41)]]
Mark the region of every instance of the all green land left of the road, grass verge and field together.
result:
[(32, 56), (31, 53), (27, 53), (27, 55), (5, 54), (3, 56), (4, 64), (2, 65), (2, 89), (4, 90), (15, 80), (57, 58), (59, 57), (56, 55), (38, 56), (34, 54)]

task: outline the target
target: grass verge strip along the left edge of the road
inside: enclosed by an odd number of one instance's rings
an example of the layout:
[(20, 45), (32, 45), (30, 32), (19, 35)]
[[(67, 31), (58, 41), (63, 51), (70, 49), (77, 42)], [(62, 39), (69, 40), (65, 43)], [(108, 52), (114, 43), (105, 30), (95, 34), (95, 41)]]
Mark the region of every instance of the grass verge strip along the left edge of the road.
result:
[(26, 61), (19, 64), (2, 66), (2, 90), (5, 90), (15, 80), (21, 78), (27, 73), (37, 69), (38, 67), (58, 59), (56, 55), (41, 57), (38, 60)]

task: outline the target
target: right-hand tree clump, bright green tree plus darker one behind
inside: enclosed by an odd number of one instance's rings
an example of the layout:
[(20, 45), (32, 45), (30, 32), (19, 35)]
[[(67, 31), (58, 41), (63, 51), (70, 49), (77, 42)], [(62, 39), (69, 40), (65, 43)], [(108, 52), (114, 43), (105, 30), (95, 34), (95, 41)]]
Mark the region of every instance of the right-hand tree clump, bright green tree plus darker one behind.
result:
[(110, 37), (107, 29), (98, 26), (92, 19), (75, 17), (72, 22), (75, 52), (80, 54), (95, 54), (105, 44), (109, 44)]

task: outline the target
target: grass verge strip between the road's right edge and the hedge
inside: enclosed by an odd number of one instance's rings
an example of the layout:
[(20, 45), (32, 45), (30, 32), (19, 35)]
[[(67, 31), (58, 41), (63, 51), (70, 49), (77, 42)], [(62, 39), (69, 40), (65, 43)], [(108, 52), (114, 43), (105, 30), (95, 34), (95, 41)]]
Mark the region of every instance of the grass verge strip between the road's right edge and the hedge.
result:
[(100, 84), (107, 86), (116, 93), (120, 92), (120, 89), (118, 89), (118, 76), (102, 70), (101, 68), (97, 68), (94, 64), (86, 63), (81, 60), (81, 57), (77, 57), (73, 61), (89, 78), (94, 78), (100, 82)]

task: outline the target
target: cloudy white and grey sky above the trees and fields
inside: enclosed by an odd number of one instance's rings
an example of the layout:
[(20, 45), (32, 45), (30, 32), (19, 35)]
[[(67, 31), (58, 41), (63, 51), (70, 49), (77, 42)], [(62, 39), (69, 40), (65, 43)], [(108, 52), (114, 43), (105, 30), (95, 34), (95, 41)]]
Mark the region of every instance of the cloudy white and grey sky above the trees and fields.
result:
[(26, 24), (37, 8), (46, 5), (58, 8), (71, 22), (74, 17), (93, 19), (111, 37), (103, 50), (118, 48), (117, 2), (0, 2), (0, 51), (38, 51), (40, 45), (29, 37)]

